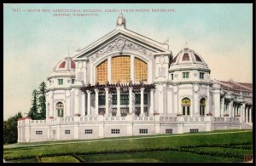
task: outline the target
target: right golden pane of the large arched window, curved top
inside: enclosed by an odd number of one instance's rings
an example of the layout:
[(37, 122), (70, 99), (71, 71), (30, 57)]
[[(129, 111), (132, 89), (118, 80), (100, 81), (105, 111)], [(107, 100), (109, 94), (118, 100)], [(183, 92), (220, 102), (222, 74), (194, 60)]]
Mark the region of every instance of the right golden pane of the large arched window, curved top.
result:
[(135, 82), (146, 82), (148, 78), (148, 65), (143, 60), (135, 58), (134, 61)]

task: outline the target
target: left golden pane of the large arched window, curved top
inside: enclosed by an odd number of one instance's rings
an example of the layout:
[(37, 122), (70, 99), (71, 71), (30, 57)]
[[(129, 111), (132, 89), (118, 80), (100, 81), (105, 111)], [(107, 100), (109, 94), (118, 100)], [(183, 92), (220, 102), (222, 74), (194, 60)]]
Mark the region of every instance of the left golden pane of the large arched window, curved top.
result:
[(108, 81), (108, 60), (103, 61), (96, 67), (96, 82), (106, 83)]

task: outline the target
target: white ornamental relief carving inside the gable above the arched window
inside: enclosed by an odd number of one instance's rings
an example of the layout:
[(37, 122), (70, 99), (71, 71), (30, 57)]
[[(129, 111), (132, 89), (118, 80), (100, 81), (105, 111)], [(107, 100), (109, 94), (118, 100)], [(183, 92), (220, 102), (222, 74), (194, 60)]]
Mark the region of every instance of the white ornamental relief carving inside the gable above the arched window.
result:
[(102, 54), (108, 54), (113, 51), (119, 51), (122, 52), (123, 50), (132, 50), (137, 51), (140, 54), (151, 56), (152, 52), (148, 49), (144, 48), (143, 46), (138, 45), (137, 43), (132, 43), (129, 40), (126, 40), (123, 37), (119, 37), (116, 40), (114, 40), (112, 43), (109, 43), (104, 48), (98, 50), (96, 54), (93, 54), (91, 56), (91, 60), (96, 60), (98, 57), (102, 56)]

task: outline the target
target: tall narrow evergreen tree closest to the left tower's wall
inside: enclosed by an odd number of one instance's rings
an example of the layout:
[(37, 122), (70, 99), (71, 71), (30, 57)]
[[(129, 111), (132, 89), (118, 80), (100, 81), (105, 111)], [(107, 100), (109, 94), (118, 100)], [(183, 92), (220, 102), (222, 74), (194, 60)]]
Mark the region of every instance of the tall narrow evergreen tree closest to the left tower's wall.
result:
[(45, 99), (45, 93), (46, 93), (46, 84), (42, 82), (39, 86), (39, 104), (38, 104), (38, 111), (40, 114), (40, 119), (45, 119), (46, 117), (46, 99)]

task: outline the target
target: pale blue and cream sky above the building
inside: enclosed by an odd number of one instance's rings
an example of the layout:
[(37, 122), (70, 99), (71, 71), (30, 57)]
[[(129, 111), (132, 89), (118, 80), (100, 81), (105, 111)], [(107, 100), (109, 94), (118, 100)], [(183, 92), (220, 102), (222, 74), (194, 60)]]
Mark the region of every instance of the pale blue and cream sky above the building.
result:
[[(75, 49), (113, 31), (119, 12), (105, 9), (174, 9), (123, 12), (126, 28), (160, 43), (168, 37), (174, 55), (188, 43), (189, 49), (207, 62), (212, 78), (253, 82), (252, 4), (5, 4), (3, 9), (4, 119), (19, 111), (28, 112), (32, 90), (38, 89), (57, 62), (67, 57), (68, 40), (74, 55)], [(55, 17), (53, 9), (102, 12), (95, 12), (98, 16)]]

